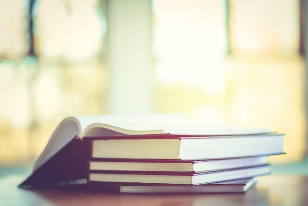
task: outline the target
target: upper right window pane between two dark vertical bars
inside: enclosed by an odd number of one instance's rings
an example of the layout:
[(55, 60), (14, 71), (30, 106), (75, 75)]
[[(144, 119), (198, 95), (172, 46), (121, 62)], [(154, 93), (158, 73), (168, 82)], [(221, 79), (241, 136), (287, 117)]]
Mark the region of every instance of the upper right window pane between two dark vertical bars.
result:
[(231, 50), (241, 55), (294, 55), (299, 48), (298, 0), (231, 0)]

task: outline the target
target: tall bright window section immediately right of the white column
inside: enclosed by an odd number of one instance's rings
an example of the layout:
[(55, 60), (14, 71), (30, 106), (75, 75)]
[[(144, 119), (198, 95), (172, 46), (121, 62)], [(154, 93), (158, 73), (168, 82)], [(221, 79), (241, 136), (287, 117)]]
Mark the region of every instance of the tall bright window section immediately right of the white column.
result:
[(221, 122), (224, 1), (154, 0), (153, 7), (157, 110)]

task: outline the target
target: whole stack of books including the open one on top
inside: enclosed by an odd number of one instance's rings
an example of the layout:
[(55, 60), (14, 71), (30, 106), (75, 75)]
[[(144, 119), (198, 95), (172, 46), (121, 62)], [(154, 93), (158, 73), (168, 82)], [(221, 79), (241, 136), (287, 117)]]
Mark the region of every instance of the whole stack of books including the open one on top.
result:
[(283, 134), (181, 115), (75, 116), (60, 123), (20, 187), (122, 193), (245, 193), (283, 154)]

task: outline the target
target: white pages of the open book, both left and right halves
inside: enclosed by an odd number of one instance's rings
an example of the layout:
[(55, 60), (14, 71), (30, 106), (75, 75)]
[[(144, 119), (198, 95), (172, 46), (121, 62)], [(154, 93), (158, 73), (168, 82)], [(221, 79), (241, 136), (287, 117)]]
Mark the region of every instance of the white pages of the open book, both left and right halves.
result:
[(238, 129), (227, 125), (194, 122), (180, 114), (90, 115), (62, 120), (34, 164), (33, 171), (53, 157), (73, 138), (114, 135), (252, 135), (267, 134), (268, 129)]

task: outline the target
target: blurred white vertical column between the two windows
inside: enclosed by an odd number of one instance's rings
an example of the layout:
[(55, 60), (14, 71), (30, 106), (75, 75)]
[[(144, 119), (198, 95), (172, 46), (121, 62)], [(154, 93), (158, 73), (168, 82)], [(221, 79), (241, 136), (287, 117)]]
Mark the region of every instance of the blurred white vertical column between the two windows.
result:
[(106, 0), (109, 112), (153, 111), (151, 0)]

